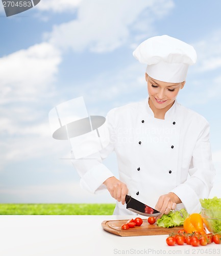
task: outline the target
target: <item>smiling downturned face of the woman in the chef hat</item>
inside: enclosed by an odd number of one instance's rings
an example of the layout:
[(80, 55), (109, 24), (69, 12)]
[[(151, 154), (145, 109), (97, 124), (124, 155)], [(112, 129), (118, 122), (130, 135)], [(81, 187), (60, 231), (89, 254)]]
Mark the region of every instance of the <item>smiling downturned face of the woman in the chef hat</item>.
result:
[(148, 82), (148, 93), (150, 100), (156, 109), (164, 109), (173, 105), (180, 89), (183, 89), (185, 81), (180, 83), (162, 82), (153, 79), (148, 74), (145, 74)]

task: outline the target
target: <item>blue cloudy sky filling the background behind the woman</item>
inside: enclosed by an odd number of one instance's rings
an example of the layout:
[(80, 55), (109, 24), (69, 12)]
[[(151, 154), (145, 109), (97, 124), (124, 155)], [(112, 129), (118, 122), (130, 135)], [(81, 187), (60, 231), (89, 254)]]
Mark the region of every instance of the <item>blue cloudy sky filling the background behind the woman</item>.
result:
[[(194, 46), (178, 101), (210, 123), (221, 197), (221, 2), (41, 0), (6, 17), (0, 3), (0, 203), (114, 202), (81, 190), (67, 141), (52, 138), (48, 112), (83, 96), (90, 115), (147, 97), (143, 40), (168, 34)], [(112, 154), (105, 163), (117, 175)]]

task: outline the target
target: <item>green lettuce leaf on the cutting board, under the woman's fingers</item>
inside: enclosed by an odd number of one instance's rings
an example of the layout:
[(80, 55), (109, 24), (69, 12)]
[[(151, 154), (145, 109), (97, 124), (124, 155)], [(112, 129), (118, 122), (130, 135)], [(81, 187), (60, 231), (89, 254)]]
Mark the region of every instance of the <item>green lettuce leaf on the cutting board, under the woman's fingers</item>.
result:
[(170, 211), (169, 214), (163, 215), (157, 220), (157, 225), (160, 227), (178, 227), (182, 226), (184, 220), (189, 216), (186, 209), (181, 209), (178, 211)]

